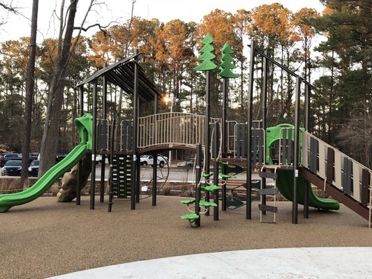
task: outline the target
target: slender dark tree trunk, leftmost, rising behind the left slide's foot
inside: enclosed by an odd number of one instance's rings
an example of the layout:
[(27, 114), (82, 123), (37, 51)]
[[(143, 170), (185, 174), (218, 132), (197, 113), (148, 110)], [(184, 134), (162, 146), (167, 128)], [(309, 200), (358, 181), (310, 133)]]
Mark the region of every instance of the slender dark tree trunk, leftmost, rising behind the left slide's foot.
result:
[(38, 29), (38, 0), (32, 2), (31, 36), (29, 45), (29, 62), (26, 78), (26, 107), (24, 112), (24, 136), (22, 137), (22, 177), (21, 186), (27, 186), (29, 177), (29, 153), (31, 140), (32, 99), (34, 96), (34, 76), (36, 57), (36, 31)]

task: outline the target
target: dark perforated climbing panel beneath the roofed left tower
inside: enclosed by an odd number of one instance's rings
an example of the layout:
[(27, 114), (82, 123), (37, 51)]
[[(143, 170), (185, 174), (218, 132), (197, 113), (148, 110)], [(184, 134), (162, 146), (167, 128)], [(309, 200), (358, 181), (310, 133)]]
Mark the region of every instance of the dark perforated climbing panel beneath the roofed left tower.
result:
[(132, 156), (113, 155), (112, 157), (112, 192), (118, 198), (131, 197)]

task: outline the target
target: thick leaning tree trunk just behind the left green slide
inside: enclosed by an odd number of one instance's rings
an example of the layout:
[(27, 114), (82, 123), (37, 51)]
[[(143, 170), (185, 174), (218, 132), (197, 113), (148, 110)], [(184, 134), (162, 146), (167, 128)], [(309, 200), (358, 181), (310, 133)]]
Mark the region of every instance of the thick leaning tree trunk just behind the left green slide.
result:
[[(63, 3), (61, 4), (63, 5)], [(54, 69), (54, 75), (50, 84), (50, 99), (47, 104), (47, 116), (45, 119), (45, 127), (43, 139), (40, 148), (40, 167), (38, 176), (45, 174), (47, 169), (50, 169), (55, 163), (57, 146), (59, 142), (59, 127), (61, 122), (61, 109), (64, 100), (64, 86), (66, 83), (67, 65), (70, 60), (71, 39), (73, 37), (73, 27), (75, 22), (77, 0), (70, 0), (68, 9), (68, 19), (66, 23), (66, 31), (61, 42), (61, 51), (57, 58), (57, 66)], [(61, 17), (61, 20), (64, 17)], [(62, 30), (60, 29), (60, 32)]]

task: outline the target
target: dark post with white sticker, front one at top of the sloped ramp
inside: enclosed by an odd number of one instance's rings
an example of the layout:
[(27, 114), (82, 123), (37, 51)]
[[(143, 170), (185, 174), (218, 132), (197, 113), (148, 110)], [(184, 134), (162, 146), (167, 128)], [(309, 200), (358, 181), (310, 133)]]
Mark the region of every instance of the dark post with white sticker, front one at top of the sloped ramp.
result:
[(292, 223), (297, 224), (298, 218), (298, 176), (299, 176), (299, 102), (301, 94), (301, 77), (296, 78), (296, 100), (295, 100), (295, 154), (293, 160), (293, 202)]

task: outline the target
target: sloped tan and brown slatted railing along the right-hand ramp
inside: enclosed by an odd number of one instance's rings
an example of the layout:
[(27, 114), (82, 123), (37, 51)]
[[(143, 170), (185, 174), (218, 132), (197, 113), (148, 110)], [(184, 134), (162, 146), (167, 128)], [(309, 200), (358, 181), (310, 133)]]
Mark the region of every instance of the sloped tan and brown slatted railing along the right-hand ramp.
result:
[(371, 216), (371, 169), (307, 132), (303, 133), (303, 150), (304, 167), (369, 206)]

